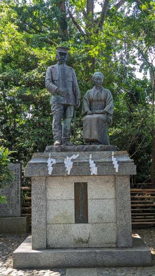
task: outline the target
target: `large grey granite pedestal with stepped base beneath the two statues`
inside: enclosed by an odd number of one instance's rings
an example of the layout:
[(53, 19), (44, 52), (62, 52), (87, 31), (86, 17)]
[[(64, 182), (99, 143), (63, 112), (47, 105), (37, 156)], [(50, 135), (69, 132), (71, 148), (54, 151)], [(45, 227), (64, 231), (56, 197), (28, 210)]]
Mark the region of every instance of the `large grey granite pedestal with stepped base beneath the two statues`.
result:
[[(82, 147), (82, 146), (81, 146)], [(72, 147), (70, 147), (72, 148)], [(80, 148), (82, 149), (82, 148)], [(65, 152), (49, 147), (32, 156), (25, 175), (32, 183), (32, 238), (14, 252), (14, 266), (104, 267), (149, 265), (151, 252), (132, 244), (130, 175), (136, 166), (126, 152)], [(48, 174), (47, 159), (56, 159)], [(64, 158), (79, 154), (67, 174)], [(97, 167), (91, 175), (89, 158)], [(31, 249), (32, 248), (32, 249)], [(31, 259), (28, 263), (22, 258)]]

